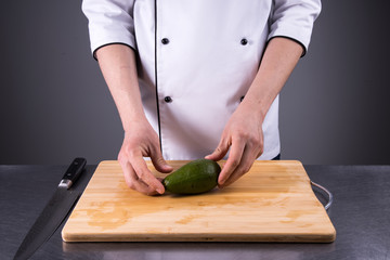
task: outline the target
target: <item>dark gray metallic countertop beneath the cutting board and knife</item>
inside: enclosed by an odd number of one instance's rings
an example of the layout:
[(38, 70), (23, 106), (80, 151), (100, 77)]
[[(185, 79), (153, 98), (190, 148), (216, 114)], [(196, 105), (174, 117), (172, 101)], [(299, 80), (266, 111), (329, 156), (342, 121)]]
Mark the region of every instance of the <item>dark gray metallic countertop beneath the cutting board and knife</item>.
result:
[[(13, 258), (66, 168), (0, 166), (0, 259)], [(390, 259), (390, 166), (304, 168), (334, 194), (335, 243), (63, 243), (60, 226), (31, 259)], [(88, 166), (75, 188), (94, 169)]]

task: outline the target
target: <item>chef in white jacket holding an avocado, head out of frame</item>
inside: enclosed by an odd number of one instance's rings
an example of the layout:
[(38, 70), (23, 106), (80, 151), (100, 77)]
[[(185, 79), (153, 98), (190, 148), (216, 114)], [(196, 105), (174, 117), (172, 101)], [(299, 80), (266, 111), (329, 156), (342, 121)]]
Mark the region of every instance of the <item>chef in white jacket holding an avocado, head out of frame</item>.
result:
[(226, 159), (224, 187), (278, 158), (278, 93), (308, 50), (320, 0), (83, 0), (91, 50), (118, 108), (129, 187), (147, 169)]

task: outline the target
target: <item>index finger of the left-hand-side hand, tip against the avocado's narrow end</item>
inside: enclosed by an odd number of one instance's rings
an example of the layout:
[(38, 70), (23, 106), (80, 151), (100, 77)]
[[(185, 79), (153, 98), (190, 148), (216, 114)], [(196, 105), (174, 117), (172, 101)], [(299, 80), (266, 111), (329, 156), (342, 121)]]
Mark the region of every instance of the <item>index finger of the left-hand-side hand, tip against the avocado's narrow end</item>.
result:
[(130, 164), (134, 169), (138, 178), (141, 179), (146, 185), (151, 186), (159, 194), (165, 192), (162, 184), (152, 174), (141, 154), (132, 156), (130, 158)]

